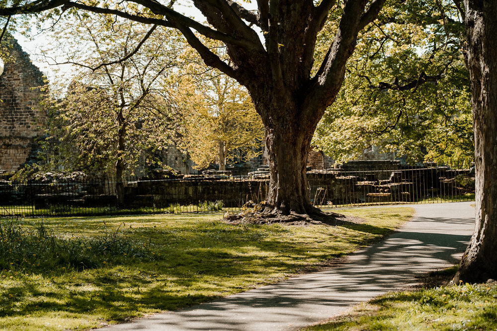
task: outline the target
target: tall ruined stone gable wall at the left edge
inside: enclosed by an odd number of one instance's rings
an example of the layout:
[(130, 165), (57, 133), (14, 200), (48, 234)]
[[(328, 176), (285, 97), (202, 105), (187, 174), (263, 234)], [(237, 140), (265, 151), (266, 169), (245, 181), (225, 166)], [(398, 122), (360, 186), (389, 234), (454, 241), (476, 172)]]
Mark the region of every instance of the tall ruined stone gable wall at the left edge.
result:
[(33, 157), (45, 115), (39, 109), (43, 73), (11, 39), (9, 61), (0, 75), (0, 171), (12, 172)]

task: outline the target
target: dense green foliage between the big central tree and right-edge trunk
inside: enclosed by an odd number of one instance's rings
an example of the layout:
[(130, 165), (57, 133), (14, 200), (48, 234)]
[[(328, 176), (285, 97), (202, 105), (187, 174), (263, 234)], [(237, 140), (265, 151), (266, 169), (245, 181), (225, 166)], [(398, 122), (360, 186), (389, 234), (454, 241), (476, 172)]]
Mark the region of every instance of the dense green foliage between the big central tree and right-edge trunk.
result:
[[(321, 44), (337, 17), (331, 15)], [(451, 0), (387, 2), (360, 34), (313, 145), (338, 161), (356, 158), (371, 145), (410, 162), (471, 159), (463, 43), (461, 13)]]

